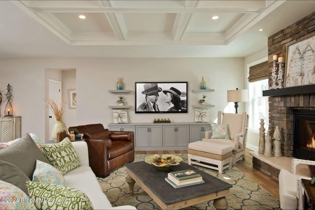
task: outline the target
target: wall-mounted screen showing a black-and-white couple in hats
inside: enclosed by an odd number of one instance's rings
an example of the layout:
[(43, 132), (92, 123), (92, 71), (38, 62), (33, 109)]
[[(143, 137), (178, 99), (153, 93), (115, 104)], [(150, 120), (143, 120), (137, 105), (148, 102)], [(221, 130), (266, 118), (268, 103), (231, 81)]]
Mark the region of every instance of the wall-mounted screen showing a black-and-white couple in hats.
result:
[(187, 113), (188, 82), (136, 82), (135, 113)]

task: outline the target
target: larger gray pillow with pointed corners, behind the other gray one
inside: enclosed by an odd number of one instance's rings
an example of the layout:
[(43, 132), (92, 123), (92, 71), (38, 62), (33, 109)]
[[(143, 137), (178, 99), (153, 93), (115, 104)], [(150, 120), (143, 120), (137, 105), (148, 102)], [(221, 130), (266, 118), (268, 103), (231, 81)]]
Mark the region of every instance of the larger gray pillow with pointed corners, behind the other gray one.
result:
[(47, 162), (49, 160), (38, 149), (29, 133), (26, 133), (19, 141), (0, 150), (0, 160), (13, 163), (20, 168), (32, 180), (36, 166), (36, 160)]

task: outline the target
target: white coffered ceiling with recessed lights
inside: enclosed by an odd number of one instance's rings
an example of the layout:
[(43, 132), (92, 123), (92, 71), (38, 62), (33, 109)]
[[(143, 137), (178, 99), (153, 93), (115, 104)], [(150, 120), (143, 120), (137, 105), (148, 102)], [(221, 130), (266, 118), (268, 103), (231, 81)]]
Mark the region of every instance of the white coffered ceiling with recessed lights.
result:
[[(314, 11), (311, 0), (12, 0), (0, 38), (31, 42), (29, 56), (243, 57)], [(23, 56), (4, 41), (0, 57)]]

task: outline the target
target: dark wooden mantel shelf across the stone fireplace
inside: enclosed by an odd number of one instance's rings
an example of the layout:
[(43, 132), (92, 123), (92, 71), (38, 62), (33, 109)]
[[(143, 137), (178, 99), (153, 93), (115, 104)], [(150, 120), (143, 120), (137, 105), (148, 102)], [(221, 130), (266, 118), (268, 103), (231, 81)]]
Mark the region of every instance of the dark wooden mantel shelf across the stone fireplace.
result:
[(285, 96), (315, 93), (315, 84), (263, 90), (262, 96)]

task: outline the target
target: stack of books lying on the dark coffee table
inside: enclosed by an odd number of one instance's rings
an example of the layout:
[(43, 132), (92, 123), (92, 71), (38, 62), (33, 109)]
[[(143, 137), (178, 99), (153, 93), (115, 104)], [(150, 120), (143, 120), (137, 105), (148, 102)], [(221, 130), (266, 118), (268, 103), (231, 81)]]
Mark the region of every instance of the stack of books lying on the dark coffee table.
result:
[(202, 176), (191, 169), (174, 171), (167, 174), (166, 182), (171, 184), (174, 188), (191, 186), (195, 184), (202, 184)]

